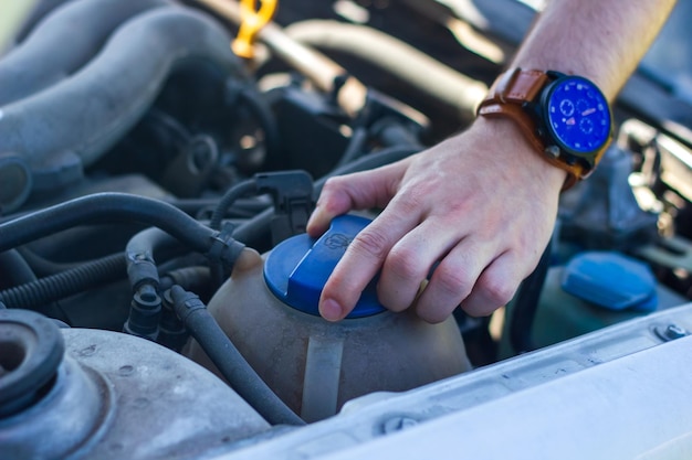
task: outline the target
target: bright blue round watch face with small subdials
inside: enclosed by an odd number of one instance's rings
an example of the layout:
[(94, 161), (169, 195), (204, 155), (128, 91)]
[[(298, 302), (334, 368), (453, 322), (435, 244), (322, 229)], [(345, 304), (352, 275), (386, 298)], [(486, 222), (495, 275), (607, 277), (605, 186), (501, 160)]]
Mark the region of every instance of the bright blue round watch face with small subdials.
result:
[(600, 150), (610, 137), (610, 108), (588, 79), (566, 76), (546, 94), (547, 127), (557, 145), (573, 153)]

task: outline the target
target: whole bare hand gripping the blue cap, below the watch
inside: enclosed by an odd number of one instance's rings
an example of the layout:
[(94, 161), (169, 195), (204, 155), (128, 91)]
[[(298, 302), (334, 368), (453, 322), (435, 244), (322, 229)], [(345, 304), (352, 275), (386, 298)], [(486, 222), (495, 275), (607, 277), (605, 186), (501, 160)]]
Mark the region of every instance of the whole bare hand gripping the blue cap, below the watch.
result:
[(429, 322), (443, 321), (458, 306), (490, 314), (536, 267), (564, 180), (512, 121), (484, 118), (397, 163), (331, 179), (307, 224), (312, 236), (350, 210), (384, 211), (334, 269), (321, 314), (346, 317), (380, 268), (377, 295), (389, 310), (412, 307)]

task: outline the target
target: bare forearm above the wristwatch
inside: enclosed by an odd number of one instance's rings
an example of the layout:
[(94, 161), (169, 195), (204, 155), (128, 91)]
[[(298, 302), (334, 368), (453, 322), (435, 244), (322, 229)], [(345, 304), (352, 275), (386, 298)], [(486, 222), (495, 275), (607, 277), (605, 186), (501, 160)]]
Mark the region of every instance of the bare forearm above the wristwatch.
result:
[(527, 34), (512, 66), (585, 76), (612, 100), (674, 3), (553, 0)]

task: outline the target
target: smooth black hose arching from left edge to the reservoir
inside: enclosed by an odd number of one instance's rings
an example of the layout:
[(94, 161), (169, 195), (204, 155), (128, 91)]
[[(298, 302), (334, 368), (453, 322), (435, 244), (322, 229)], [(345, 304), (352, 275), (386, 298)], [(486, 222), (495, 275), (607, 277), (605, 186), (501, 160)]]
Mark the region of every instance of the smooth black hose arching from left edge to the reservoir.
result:
[[(219, 243), (217, 232), (168, 203), (127, 193), (96, 193), (0, 224), (0, 252), (76, 225), (118, 221), (159, 227), (201, 254)], [(231, 257), (227, 248), (219, 248), (222, 261)]]

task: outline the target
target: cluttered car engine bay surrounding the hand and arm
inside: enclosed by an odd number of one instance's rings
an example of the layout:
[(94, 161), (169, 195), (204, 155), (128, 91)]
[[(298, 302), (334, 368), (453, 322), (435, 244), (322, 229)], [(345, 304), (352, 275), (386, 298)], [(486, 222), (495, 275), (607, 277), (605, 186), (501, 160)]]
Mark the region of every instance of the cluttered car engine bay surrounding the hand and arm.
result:
[(36, 0), (0, 49), (0, 458), (493, 458), (494, 430), (599, 428), (574, 458), (692, 452), (692, 1), (512, 302), (439, 324), (370, 287), (319, 318), (378, 210), (307, 218), (328, 178), (466, 127), (535, 10), (259, 3)]

